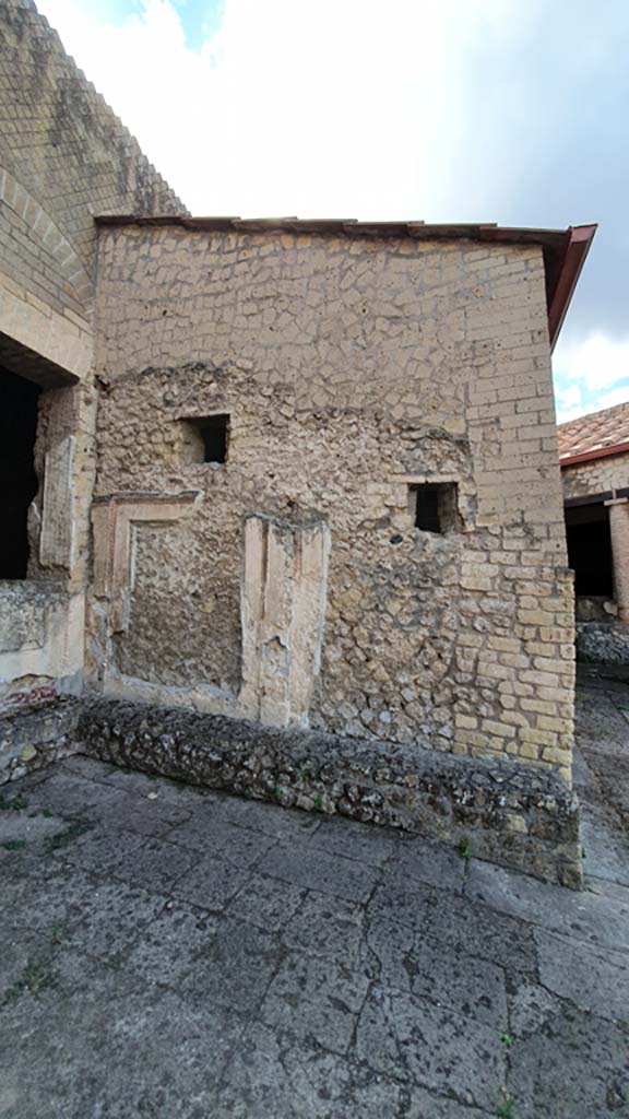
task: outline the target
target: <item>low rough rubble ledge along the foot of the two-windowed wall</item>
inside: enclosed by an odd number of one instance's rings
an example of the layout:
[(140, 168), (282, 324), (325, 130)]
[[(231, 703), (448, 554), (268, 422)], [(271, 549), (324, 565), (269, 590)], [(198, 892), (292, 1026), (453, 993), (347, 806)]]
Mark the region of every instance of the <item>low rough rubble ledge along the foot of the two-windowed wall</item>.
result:
[(422, 834), (582, 887), (578, 800), (548, 771), (104, 698), (83, 702), (76, 736), (102, 761)]

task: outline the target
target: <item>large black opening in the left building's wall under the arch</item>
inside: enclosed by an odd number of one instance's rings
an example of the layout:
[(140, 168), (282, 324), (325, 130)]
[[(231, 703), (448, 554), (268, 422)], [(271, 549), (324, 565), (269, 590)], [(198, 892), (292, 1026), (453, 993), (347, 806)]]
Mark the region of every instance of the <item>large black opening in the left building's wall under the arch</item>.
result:
[(27, 514), (37, 493), (34, 451), (40, 389), (0, 368), (0, 579), (26, 579)]

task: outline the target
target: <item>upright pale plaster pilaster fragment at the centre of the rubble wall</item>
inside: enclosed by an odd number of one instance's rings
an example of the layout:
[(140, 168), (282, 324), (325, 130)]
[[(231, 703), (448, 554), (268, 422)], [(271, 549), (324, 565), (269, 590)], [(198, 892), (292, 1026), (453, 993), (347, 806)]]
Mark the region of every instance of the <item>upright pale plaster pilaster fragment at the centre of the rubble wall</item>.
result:
[(254, 515), (245, 521), (240, 707), (271, 726), (306, 726), (319, 673), (329, 530)]

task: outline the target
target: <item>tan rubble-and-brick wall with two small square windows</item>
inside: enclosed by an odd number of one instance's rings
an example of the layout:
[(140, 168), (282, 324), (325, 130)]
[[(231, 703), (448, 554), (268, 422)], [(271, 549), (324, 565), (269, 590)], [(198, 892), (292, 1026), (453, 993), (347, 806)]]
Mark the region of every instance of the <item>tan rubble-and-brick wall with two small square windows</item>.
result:
[[(310, 724), (569, 774), (537, 248), (103, 228), (97, 305), (96, 493), (198, 497), (181, 520), (137, 514), (124, 587), (94, 598), (94, 681), (243, 714), (245, 517), (312, 515), (330, 553)], [(231, 416), (227, 461), (187, 463), (181, 421), (209, 413)], [(426, 480), (458, 485), (444, 535), (414, 527)], [(118, 547), (103, 524), (100, 547)], [(113, 628), (112, 593), (128, 604)]]

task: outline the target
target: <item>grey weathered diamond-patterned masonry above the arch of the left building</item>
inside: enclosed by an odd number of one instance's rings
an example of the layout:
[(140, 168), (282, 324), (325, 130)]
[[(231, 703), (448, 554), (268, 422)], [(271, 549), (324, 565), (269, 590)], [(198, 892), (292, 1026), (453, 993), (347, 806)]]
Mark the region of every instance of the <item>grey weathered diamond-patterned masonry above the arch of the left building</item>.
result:
[(2, 270), (72, 322), (93, 289), (93, 215), (184, 206), (30, 0), (3, 0), (0, 50)]

